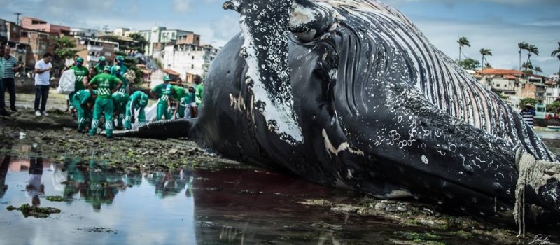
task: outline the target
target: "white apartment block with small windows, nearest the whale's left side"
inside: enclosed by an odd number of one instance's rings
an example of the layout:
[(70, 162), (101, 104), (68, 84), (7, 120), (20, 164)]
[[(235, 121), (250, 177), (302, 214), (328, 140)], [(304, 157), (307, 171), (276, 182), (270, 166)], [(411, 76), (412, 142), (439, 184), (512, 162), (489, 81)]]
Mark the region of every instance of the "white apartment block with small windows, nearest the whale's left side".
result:
[(188, 73), (206, 79), (210, 64), (218, 55), (218, 48), (211, 45), (182, 43), (167, 45), (163, 56), (163, 67), (179, 72), (179, 77), (188, 81)]

